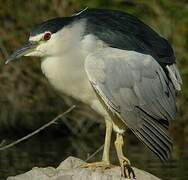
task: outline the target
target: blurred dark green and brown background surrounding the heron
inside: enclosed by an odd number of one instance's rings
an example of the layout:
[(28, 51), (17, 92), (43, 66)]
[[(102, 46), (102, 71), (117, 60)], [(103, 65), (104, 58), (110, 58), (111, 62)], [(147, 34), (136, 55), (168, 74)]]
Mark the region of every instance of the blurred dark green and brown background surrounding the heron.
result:
[[(4, 65), (8, 54), (28, 38), (33, 25), (56, 16), (71, 15), (85, 7), (134, 14), (173, 46), (184, 84), (177, 97), (178, 116), (171, 126), (172, 158), (162, 165), (131, 132), (126, 134), (125, 153), (134, 166), (158, 177), (188, 179), (187, 0), (0, 0), (0, 140), (11, 142), (50, 121), (70, 105), (79, 105), (57, 125), (0, 152), (0, 179), (23, 173), (33, 166), (57, 166), (69, 155), (86, 159), (103, 144), (102, 118), (83, 104), (58, 94), (42, 75), (39, 59), (22, 58)], [(91, 160), (99, 160), (100, 156), (101, 152)], [(114, 151), (111, 157), (116, 163)]]

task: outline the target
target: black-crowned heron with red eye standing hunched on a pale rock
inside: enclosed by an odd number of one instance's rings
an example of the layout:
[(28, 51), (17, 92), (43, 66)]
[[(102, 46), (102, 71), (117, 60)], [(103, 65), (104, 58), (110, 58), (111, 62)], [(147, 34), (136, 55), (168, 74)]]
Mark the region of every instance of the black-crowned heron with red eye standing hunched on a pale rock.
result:
[(42, 72), (56, 90), (104, 117), (102, 160), (83, 167), (111, 167), (114, 131), (121, 174), (135, 176), (123, 153), (127, 129), (159, 159), (169, 159), (169, 126), (182, 79), (170, 43), (143, 21), (119, 10), (86, 8), (34, 26), (6, 64), (22, 56), (40, 57)]

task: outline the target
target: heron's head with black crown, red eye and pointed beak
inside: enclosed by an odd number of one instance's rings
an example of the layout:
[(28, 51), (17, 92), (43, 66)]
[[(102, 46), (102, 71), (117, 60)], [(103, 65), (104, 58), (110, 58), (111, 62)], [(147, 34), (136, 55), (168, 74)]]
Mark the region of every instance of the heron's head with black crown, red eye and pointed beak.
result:
[(28, 41), (8, 57), (6, 64), (22, 56), (49, 57), (69, 51), (80, 38), (77, 34), (81, 26), (75, 24), (80, 23), (75, 23), (74, 17), (64, 17), (37, 25), (31, 30)]

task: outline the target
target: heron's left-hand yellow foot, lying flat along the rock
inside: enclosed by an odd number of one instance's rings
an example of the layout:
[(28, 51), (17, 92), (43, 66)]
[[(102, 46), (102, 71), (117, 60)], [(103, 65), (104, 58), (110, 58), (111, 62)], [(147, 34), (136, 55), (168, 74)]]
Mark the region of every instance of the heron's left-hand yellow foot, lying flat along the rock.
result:
[(103, 171), (106, 169), (110, 169), (114, 167), (114, 165), (109, 162), (101, 161), (101, 162), (93, 162), (93, 163), (85, 163), (80, 166), (81, 168), (91, 168), (91, 169), (102, 169)]

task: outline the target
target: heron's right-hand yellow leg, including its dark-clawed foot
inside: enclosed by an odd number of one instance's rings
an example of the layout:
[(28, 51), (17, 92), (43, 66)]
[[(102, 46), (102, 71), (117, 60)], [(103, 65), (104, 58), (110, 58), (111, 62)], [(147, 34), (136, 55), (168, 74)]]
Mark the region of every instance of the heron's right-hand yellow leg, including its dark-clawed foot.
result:
[(115, 140), (115, 148), (121, 166), (121, 174), (123, 177), (126, 178), (131, 178), (131, 174), (132, 174), (132, 178), (135, 178), (135, 173), (131, 168), (130, 161), (123, 155), (123, 145), (124, 145), (123, 135), (117, 133)]

